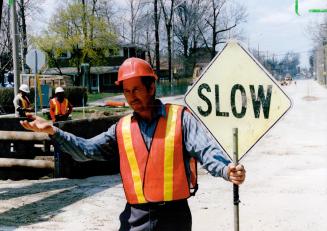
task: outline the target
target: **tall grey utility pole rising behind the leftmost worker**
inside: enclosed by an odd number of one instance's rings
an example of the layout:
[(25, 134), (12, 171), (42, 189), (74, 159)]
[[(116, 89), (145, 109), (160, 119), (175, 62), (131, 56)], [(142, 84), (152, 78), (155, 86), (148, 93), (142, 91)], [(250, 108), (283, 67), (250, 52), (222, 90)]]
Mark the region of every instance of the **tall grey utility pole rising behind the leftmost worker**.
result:
[(18, 70), (18, 33), (17, 33), (17, 16), (16, 16), (16, 1), (12, 0), (10, 7), (11, 16), (11, 35), (12, 35), (12, 58), (13, 58), (13, 72), (14, 72), (14, 94), (18, 94), (20, 85), (19, 70)]

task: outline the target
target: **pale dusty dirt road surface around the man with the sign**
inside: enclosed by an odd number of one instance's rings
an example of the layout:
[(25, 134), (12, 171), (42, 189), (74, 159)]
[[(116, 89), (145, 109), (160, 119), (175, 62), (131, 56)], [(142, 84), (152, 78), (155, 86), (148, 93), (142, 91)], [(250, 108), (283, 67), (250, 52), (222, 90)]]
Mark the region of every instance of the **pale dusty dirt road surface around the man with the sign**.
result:
[[(242, 159), (240, 230), (327, 230), (327, 89), (284, 86), (293, 107)], [(233, 230), (232, 185), (201, 171), (193, 230)], [(120, 177), (0, 181), (0, 230), (117, 230)]]

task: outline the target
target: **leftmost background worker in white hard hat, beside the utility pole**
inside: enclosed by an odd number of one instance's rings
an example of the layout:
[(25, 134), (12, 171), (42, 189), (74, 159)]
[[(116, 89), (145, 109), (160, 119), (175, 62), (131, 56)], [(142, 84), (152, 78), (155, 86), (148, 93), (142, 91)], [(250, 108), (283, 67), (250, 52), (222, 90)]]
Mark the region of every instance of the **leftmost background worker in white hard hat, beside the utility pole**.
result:
[(26, 84), (20, 85), (18, 94), (13, 100), (16, 117), (26, 117), (26, 112), (33, 111), (33, 108), (31, 108), (31, 103), (28, 99), (29, 93), (30, 89)]

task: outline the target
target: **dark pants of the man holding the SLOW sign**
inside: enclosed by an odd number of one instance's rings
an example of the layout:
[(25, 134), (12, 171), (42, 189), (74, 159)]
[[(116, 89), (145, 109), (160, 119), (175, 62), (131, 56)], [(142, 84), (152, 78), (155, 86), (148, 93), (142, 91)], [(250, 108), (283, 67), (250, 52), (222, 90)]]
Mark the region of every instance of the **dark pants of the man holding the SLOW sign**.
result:
[(126, 204), (119, 219), (120, 231), (192, 230), (192, 215), (187, 200)]

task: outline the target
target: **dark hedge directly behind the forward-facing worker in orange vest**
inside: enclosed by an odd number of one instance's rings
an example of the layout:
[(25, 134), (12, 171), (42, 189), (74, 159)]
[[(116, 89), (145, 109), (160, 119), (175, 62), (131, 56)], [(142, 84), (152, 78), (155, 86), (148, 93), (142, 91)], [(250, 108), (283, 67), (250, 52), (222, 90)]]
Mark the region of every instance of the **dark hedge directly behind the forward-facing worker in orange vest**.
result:
[[(54, 90), (52, 89), (52, 95), (54, 95)], [(85, 87), (66, 87), (65, 97), (74, 107), (83, 106), (83, 96), (84, 96), (84, 105), (87, 103), (87, 89)]]

